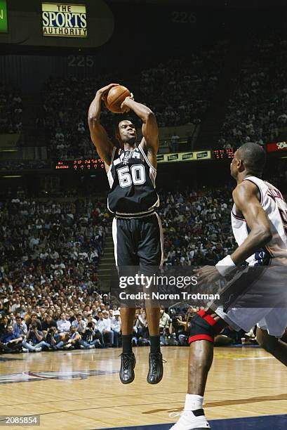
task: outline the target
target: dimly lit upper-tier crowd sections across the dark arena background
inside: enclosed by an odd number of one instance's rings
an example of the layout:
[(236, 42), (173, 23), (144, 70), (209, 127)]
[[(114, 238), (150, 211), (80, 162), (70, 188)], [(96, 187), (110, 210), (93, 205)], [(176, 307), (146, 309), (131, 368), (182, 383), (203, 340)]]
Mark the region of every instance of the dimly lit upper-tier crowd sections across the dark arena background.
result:
[[(133, 79), (135, 98), (152, 108), (160, 127), (199, 123), (211, 103), (217, 103), (213, 96), (226, 56), (225, 44), (215, 44), (189, 53), (184, 60), (171, 59), (144, 69)], [(264, 145), (276, 141), (280, 130), (287, 129), (286, 63), (287, 41), (281, 35), (253, 40), (243, 54), (241, 69), (232, 78), (235, 89), (222, 124), (220, 148), (236, 148), (247, 141)], [(45, 131), (49, 158), (96, 157), (87, 111), (95, 91), (111, 80), (126, 84), (109, 75), (51, 77), (45, 82), (35, 126)], [(103, 106), (101, 121), (109, 136), (114, 135), (115, 118)], [(0, 133), (20, 131), (20, 91), (1, 85)]]

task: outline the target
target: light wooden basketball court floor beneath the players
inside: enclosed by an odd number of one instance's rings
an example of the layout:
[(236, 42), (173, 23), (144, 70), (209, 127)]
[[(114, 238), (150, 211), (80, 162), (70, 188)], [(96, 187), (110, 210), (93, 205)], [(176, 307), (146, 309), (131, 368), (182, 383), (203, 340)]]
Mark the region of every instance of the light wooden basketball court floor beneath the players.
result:
[[(129, 385), (119, 382), (119, 349), (2, 355), (0, 415), (40, 415), (40, 429), (172, 424), (169, 414), (185, 400), (189, 348), (162, 349), (167, 363), (155, 386), (146, 382), (146, 347), (134, 348)], [(261, 348), (215, 348), (204, 408), (208, 419), (286, 414), (286, 368)]]

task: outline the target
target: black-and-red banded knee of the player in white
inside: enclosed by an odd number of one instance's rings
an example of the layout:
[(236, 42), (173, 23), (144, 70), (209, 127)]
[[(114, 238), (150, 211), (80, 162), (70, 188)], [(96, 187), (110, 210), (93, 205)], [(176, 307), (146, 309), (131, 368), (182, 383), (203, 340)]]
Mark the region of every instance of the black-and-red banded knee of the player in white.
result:
[(190, 321), (189, 344), (198, 340), (214, 342), (216, 334), (218, 334), (218, 321), (206, 311), (199, 311)]

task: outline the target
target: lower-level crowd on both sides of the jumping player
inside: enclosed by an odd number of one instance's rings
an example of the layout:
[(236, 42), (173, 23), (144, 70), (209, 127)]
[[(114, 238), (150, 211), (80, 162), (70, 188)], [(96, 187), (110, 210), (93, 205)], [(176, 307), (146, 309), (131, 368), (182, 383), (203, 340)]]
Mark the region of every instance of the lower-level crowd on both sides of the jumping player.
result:
[[(106, 204), (72, 200), (18, 193), (0, 204), (0, 351), (120, 345), (119, 305), (100, 294), (97, 277), (110, 221)], [(164, 266), (213, 264), (229, 254), (229, 210), (227, 188), (161, 195)], [(164, 316), (161, 344), (186, 343), (186, 311)], [(133, 342), (148, 343), (144, 309), (137, 311)]]

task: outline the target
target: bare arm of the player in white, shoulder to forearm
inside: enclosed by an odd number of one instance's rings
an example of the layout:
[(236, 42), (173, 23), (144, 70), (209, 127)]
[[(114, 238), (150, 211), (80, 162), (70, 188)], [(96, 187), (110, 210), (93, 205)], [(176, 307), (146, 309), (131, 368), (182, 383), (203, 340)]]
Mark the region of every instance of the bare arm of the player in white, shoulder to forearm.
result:
[(243, 181), (233, 192), (236, 208), (241, 211), (250, 233), (231, 255), (235, 264), (243, 263), (272, 239), (269, 219), (258, 200), (258, 187), (251, 181)]

